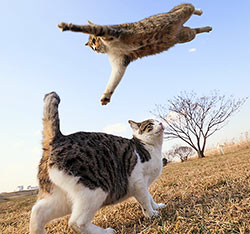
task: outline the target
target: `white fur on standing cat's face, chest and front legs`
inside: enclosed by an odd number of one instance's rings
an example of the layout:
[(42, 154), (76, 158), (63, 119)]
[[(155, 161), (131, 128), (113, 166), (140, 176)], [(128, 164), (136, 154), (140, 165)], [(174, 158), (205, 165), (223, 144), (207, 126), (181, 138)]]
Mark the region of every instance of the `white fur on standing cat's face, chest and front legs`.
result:
[(151, 159), (141, 163), (137, 154), (138, 163), (136, 164), (131, 177), (129, 178), (129, 195), (134, 196), (140, 203), (142, 211), (146, 217), (158, 215), (157, 209), (164, 208), (164, 204), (155, 203), (148, 192), (148, 187), (160, 175), (162, 170), (162, 141), (163, 126), (158, 121), (154, 121), (154, 128), (151, 132), (139, 134), (139, 128), (132, 127), (134, 136), (145, 143), (145, 148), (151, 155)]

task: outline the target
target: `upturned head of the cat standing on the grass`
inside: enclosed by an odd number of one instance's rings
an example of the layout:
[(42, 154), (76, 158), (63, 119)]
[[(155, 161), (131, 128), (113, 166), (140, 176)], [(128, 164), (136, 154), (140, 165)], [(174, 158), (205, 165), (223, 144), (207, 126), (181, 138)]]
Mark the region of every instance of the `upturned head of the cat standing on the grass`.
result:
[(164, 127), (161, 122), (153, 119), (141, 123), (132, 120), (128, 122), (133, 130), (133, 136), (137, 139), (151, 145), (162, 144)]

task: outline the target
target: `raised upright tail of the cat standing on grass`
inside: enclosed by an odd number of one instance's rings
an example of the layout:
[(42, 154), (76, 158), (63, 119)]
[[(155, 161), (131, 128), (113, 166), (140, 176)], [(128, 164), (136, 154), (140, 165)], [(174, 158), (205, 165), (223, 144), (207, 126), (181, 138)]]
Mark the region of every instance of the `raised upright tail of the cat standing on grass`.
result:
[(60, 98), (55, 92), (51, 92), (44, 97), (43, 109), (43, 147), (48, 149), (53, 139), (61, 135), (58, 105)]

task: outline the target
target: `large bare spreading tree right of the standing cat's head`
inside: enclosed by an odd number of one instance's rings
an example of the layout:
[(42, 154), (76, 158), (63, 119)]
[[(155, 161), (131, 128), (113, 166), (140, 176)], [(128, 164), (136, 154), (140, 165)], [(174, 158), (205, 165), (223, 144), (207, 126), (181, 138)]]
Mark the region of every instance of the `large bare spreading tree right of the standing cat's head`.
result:
[(194, 92), (182, 92), (169, 100), (168, 106), (157, 105), (153, 113), (165, 122), (166, 138), (185, 141), (203, 158), (207, 138), (224, 127), (246, 100), (226, 98), (218, 91), (201, 97)]

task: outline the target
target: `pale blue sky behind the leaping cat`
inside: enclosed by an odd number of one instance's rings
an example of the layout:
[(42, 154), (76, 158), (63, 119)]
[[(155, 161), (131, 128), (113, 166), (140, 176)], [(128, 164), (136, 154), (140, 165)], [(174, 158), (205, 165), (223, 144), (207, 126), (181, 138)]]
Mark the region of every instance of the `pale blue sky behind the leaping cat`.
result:
[[(156, 3), (157, 2), (157, 3)], [(111, 72), (106, 55), (84, 46), (88, 36), (64, 32), (62, 21), (86, 24), (134, 22), (167, 12), (183, 1), (48, 1), (0, 3), (0, 192), (17, 185), (36, 185), (41, 157), (43, 96), (61, 97), (64, 134), (105, 131), (131, 137), (127, 121), (152, 117), (180, 91), (207, 94), (218, 89), (235, 97), (250, 92), (250, 2), (189, 1), (204, 12), (186, 25), (212, 26), (190, 43), (129, 65), (111, 103), (100, 97)], [(250, 103), (210, 139), (210, 144), (239, 137), (250, 130)], [(165, 144), (171, 146), (171, 142)]]

